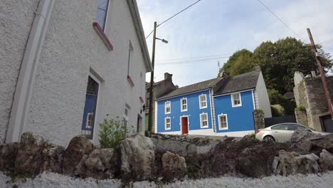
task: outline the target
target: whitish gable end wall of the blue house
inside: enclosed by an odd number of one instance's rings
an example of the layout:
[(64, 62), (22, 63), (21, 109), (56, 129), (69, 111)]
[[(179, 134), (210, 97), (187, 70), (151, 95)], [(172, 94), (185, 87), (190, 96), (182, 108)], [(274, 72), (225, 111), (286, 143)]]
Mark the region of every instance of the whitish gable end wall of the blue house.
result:
[(268, 91), (263, 79), (263, 73), (260, 72), (257, 86), (255, 87), (255, 93), (258, 95), (258, 104), (261, 110), (265, 113), (266, 117), (272, 117), (272, 111), (270, 110), (270, 98), (268, 98)]

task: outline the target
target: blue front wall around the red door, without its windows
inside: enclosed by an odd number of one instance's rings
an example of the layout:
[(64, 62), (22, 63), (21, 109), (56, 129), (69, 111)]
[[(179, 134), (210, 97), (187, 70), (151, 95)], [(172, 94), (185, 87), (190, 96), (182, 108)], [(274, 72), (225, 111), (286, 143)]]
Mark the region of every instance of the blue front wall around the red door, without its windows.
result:
[[(200, 109), (199, 95), (206, 94), (207, 108)], [(187, 98), (187, 111), (181, 112), (181, 98)], [(171, 101), (171, 113), (165, 114), (165, 102)], [(208, 128), (200, 127), (200, 114), (208, 114)], [(191, 93), (189, 95), (181, 95), (179, 97), (161, 100), (157, 102), (157, 132), (174, 132), (180, 131), (180, 117), (189, 115), (189, 132), (191, 130), (205, 130), (212, 128), (211, 122), (211, 100), (209, 98), (209, 90), (201, 91), (198, 93)], [(164, 118), (171, 117), (171, 130), (165, 130)]]

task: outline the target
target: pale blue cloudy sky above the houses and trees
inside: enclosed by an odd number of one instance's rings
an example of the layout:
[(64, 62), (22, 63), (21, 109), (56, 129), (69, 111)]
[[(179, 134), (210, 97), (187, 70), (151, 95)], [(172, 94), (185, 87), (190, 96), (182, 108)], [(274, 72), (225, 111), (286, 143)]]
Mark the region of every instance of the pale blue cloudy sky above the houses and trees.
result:
[[(137, 0), (146, 36), (154, 21), (162, 23), (195, 1)], [(166, 72), (173, 74), (174, 84), (180, 87), (216, 78), (218, 61), (223, 66), (228, 56), (240, 49), (253, 51), (263, 41), (287, 36), (310, 43), (307, 28), (314, 43), (321, 43), (325, 52), (333, 54), (332, 0), (261, 1), (298, 36), (258, 0), (201, 0), (157, 28), (157, 37), (169, 43), (156, 43), (154, 81), (163, 80)], [(152, 35), (147, 46), (152, 53)]]

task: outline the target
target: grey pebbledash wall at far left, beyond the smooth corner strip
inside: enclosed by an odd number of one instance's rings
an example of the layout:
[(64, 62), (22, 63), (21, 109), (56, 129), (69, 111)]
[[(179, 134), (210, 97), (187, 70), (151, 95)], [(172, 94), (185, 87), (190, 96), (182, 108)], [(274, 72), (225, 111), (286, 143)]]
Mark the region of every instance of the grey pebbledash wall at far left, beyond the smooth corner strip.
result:
[(18, 73), (39, 0), (0, 1), (0, 137), (4, 139)]

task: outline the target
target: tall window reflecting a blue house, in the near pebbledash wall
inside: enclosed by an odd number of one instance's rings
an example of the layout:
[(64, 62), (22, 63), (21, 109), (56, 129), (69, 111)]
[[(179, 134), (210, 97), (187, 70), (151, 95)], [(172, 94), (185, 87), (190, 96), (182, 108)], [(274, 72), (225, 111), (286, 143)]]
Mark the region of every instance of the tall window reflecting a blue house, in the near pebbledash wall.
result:
[(89, 139), (93, 139), (98, 88), (99, 84), (89, 76), (82, 120), (82, 134), (86, 135)]

